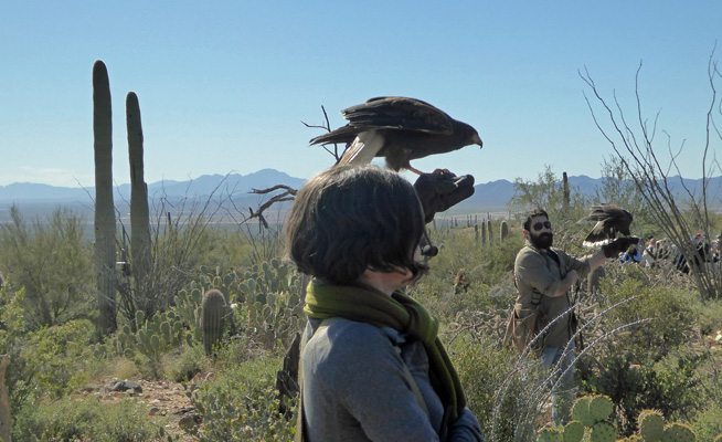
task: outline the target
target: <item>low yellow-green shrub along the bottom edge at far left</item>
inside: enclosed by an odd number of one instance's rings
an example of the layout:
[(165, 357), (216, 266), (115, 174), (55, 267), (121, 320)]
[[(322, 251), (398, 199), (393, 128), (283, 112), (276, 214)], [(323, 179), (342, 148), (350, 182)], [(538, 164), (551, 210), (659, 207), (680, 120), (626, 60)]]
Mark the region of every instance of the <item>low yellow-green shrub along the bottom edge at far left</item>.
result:
[(14, 441), (160, 441), (162, 424), (132, 400), (105, 403), (97, 398), (63, 399), (23, 409), (12, 427)]

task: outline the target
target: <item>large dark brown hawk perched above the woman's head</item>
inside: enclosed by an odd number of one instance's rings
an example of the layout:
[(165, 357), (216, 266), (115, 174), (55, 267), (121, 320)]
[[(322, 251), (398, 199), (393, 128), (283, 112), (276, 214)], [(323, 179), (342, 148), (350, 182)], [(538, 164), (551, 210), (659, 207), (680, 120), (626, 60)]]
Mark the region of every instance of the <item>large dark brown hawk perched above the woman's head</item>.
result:
[(395, 171), (406, 169), (422, 175), (411, 167), (411, 160), (482, 145), (474, 127), (421, 99), (376, 97), (341, 114), (349, 124), (310, 141), (346, 144), (338, 165), (365, 165), (374, 157), (385, 157), (386, 166)]

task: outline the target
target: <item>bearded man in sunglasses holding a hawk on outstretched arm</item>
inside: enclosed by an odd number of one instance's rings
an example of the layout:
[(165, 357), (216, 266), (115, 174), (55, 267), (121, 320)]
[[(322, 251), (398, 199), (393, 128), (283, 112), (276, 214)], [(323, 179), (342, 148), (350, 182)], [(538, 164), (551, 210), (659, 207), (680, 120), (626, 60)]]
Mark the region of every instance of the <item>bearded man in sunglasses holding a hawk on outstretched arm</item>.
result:
[(514, 313), (518, 318), (537, 315), (534, 333), (541, 335), (535, 341), (541, 362), (546, 369), (554, 368), (553, 382), (560, 382), (555, 386), (552, 404), (552, 418), (559, 424), (569, 418), (569, 407), (574, 398), (572, 376), (575, 351), (572, 337), (576, 324), (570, 311), (570, 288), (580, 277), (586, 277), (607, 259), (617, 257), (638, 239), (619, 238), (590, 255), (576, 259), (552, 248), (552, 223), (542, 209), (527, 214), (523, 234), (527, 243), (514, 262), (518, 291)]

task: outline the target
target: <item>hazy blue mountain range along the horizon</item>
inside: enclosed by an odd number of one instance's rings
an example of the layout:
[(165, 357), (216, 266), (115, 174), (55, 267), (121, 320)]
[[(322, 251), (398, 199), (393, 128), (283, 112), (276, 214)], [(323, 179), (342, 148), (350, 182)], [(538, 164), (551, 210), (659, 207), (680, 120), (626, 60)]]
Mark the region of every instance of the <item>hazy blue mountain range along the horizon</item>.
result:
[[(594, 196), (595, 189), (604, 181), (604, 178), (591, 178), (587, 176), (569, 177), (570, 186), (583, 194)], [(167, 201), (179, 201), (194, 199), (198, 201), (209, 200), (212, 196), (216, 199), (231, 199), (234, 206), (243, 208), (257, 208), (258, 202), (265, 198), (249, 193), (253, 189), (267, 189), (276, 185), (299, 189), (306, 179), (294, 178), (285, 172), (275, 169), (263, 169), (249, 175), (204, 175), (188, 181), (158, 181), (148, 185), (148, 196), (151, 200), (164, 199)], [(675, 191), (681, 191), (681, 181), (672, 177), (669, 182)], [(693, 192), (701, 190), (701, 179), (684, 179), (684, 185)], [(454, 208), (458, 213), (479, 213), (506, 211), (507, 203), (514, 194), (513, 182), (508, 180), (496, 180), (475, 186), (475, 194)], [(708, 183), (708, 203), (712, 207), (722, 207), (719, 196), (722, 196), (722, 177), (715, 177)], [(17, 182), (8, 186), (0, 186), (0, 221), (11, 204), (18, 204), (23, 213), (43, 212), (54, 209), (57, 206), (67, 206), (74, 209), (93, 209), (94, 188), (67, 188), (49, 185)], [(709, 198), (712, 197), (712, 198)], [(127, 204), (130, 201), (130, 185), (120, 185), (115, 188), (116, 206)], [(120, 209), (119, 209), (120, 210)], [(123, 210), (120, 210), (124, 213)]]

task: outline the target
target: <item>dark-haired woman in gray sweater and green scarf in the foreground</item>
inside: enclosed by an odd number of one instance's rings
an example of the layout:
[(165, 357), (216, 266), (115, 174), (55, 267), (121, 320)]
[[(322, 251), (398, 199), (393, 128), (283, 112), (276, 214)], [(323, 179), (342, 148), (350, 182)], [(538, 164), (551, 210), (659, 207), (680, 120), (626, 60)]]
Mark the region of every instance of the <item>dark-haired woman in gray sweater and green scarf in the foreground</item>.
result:
[(331, 168), (296, 196), (287, 248), (314, 276), (301, 439), (484, 440), (437, 320), (401, 291), (427, 270), (420, 262), (424, 228), (414, 187), (378, 167)]

